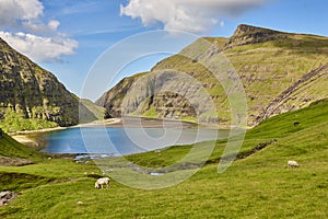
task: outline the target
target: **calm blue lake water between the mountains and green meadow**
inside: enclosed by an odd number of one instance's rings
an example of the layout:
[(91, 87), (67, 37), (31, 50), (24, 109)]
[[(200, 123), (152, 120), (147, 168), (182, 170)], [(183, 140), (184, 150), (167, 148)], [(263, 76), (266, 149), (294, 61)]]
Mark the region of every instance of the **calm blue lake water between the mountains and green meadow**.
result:
[(124, 155), (168, 146), (223, 139), (229, 130), (180, 127), (81, 127), (43, 135), (49, 153)]

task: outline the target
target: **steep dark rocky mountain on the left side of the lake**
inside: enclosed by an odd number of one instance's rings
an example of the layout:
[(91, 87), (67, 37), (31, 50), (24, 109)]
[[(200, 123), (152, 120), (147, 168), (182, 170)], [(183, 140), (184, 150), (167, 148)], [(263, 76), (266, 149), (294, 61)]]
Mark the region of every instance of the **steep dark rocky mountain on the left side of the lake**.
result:
[[(83, 112), (93, 118), (91, 111)], [(40, 68), (0, 38), (0, 119), (2, 119), (2, 125), (5, 124), (5, 118), (9, 119), (12, 115), (14, 119), (34, 119), (34, 123), (43, 124), (49, 122), (46, 126), (77, 125), (79, 123), (79, 97), (69, 92), (51, 72)], [(12, 119), (8, 123), (9, 127), (5, 129), (11, 130), (14, 123), (23, 122)], [(27, 127), (30, 125), (13, 128), (13, 130), (38, 127)]]

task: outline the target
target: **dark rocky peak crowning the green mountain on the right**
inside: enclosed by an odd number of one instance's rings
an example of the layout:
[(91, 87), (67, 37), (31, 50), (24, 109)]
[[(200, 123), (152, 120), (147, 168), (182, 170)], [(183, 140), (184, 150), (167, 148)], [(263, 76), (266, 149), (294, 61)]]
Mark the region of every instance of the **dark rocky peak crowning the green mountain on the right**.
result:
[(284, 37), (286, 37), (286, 33), (273, 31), (270, 28), (241, 24), (237, 26), (234, 35), (230, 37), (229, 42), (224, 45), (223, 49), (225, 50), (235, 46), (262, 43)]

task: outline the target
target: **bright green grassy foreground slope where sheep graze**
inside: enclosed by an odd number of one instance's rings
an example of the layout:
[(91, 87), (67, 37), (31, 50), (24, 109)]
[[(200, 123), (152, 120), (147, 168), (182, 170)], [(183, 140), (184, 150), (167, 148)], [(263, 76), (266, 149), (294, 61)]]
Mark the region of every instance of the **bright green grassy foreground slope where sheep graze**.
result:
[[(277, 141), (254, 150), (273, 139)], [(3, 145), (0, 147), (2, 151)], [(0, 166), (0, 191), (21, 194), (0, 208), (0, 217), (328, 218), (328, 101), (272, 117), (250, 129), (241, 159), (218, 174), (215, 161), (224, 147), (225, 141), (218, 141), (212, 162), (192, 177), (155, 191), (117, 182), (112, 182), (110, 189), (95, 189), (95, 178), (84, 173), (101, 171), (65, 159), (40, 157), (36, 164)], [(161, 155), (149, 152), (127, 159), (159, 168), (174, 163), (189, 150), (189, 146), (173, 147)], [(288, 160), (296, 160), (301, 168), (288, 169)]]

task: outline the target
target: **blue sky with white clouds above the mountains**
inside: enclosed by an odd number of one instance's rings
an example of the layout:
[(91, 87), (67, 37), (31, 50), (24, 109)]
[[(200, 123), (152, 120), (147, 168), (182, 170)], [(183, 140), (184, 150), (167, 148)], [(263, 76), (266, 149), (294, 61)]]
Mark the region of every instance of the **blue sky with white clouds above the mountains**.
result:
[(327, 11), (326, 0), (0, 0), (0, 37), (95, 101), (197, 37), (229, 37), (242, 23), (328, 36)]

